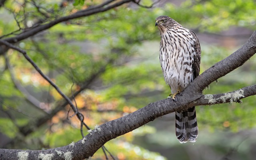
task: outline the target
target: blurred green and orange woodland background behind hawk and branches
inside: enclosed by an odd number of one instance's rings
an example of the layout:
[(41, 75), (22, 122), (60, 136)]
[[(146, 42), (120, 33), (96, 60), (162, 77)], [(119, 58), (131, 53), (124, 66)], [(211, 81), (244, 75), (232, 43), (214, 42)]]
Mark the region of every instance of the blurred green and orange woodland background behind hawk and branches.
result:
[[(15, 36), (104, 0), (74, 6), (66, 0), (1, 0), (0, 36)], [(255, 0), (141, 0), (68, 20), (16, 44), (68, 96), (75, 96), (84, 122), (94, 128), (167, 98), (159, 63), (155, 18), (167, 15), (196, 32), (201, 73), (240, 48), (256, 26)], [(19, 24), (20, 27), (17, 25)], [(21, 29), (20, 29), (21, 28)], [(25, 29), (24, 29), (25, 28)], [(8, 35), (10, 34), (10, 35)], [(213, 82), (204, 94), (238, 90), (256, 83), (256, 58)], [(41, 150), (82, 138), (80, 123), (65, 100), (22, 54), (0, 54), (0, 148)], [(174, 113), (106, 143), (119, 160), (254, 160), (256, 97), (241, 104), (197, 106), (195, 143), (180, 144)], [(67, 117), (68, 120), (67, 120)], [(88, 134), (86, 129), (84, 133)], [(102, 150), (93, 159), (105, 159)]]

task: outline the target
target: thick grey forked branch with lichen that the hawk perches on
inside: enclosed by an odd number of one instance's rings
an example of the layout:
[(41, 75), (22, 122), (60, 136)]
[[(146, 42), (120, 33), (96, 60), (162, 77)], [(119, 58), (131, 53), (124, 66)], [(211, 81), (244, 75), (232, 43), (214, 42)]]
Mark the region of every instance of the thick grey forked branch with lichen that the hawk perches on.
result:
[(177, 101), (164, 99), (150, 103), (136, 112), (102, 124), (92, 130), (82, 140), (68, 146), (44, 151), (0, 149), (0, 158), (1, 160), (16, 160), (18, 159), (19, 152), (27, 152), (28, 160), (40, 159), (40, 157), (42, 159), (42, 156), (50, 156), (56, 160), (63, 160), (63, 155), (68, 153), (73, 157), (72, 160), (80, 160), (92, 156), (109, 140), (130, 132), (165, 114), (198, 105), (240, 102), (240, 99), (256, 94), (256, 85), (247, 86), (233, 92), (214, 95), (202, 95), (202, 90), (218, 78), (244, 64), (255, 53), (256, 31), (240, 49), (198, 76), (182, 94), (176, 96)]

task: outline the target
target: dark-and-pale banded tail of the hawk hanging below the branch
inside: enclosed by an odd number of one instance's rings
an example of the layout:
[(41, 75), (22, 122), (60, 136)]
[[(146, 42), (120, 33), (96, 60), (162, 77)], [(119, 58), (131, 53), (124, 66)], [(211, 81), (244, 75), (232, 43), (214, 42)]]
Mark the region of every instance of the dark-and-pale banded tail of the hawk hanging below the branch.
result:
[(176, 136), (180, 143), (196, 142), (198, 126), (196, 122), (196, 108), (189, 108), (184, 112), (176, 112)]

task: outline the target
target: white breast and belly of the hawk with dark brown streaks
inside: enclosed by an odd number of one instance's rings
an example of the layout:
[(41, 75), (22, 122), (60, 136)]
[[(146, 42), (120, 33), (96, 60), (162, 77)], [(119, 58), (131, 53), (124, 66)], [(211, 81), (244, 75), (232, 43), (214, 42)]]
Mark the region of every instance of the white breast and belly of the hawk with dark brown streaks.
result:
[(172, 27), (161, 32), (160, 64), (164, 80), (170, 85), (172, 93), (184, 90), (194, 80), (192, 64), (196, 51), (195, 38), (190, 30), (183, 27)]

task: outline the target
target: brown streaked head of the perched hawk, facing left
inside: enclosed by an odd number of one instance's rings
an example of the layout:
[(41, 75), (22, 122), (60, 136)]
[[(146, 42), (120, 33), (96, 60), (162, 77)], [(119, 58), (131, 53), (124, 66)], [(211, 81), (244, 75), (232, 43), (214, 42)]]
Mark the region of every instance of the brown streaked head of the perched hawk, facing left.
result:
[(178, 22), (168, 16), (159, 16), (156, 18), (155, 25), (158, 26), (159, 29), (181, 26)]

